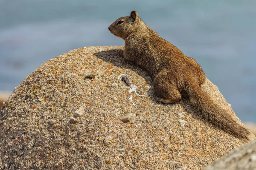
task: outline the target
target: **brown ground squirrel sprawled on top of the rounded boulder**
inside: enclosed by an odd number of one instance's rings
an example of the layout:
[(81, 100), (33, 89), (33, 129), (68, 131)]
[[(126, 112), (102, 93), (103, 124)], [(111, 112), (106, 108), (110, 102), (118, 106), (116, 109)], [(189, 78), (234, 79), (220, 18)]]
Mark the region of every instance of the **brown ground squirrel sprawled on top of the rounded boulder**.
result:
[(189, 97), (215, 126), (240, 139), (249, 140), (250, 132), (202, 91), (201, 84), (206, 77), (201, 66), (149, 28), (136, 11), (117, 19), (108, 29), (125, 40), (121, 53), (124, 58), (143, 67), (151, 75), (154, 92), (158, 96), (156, 101), (171, 104), (181, 97)]

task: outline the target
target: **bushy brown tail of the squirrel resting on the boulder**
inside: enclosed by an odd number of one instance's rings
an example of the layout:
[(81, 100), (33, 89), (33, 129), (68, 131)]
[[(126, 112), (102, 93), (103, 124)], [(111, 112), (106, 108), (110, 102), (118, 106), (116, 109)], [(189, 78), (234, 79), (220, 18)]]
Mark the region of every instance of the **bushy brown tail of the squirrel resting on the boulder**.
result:
[(239, 139), (249, 140), (249, 130), (239, 125), (230, 114), (215, 104), (199, 85), (186, 84), (185, 89), (190, 99), (196, 101), (198, 109), (211, 123)]

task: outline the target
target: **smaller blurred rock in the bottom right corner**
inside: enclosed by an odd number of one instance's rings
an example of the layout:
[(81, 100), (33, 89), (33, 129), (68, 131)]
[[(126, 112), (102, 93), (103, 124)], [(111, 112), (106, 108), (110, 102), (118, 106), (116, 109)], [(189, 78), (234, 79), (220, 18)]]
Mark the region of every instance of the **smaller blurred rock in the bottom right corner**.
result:
[(205, 170), (256, 170), (256, 140), (238, 147)]

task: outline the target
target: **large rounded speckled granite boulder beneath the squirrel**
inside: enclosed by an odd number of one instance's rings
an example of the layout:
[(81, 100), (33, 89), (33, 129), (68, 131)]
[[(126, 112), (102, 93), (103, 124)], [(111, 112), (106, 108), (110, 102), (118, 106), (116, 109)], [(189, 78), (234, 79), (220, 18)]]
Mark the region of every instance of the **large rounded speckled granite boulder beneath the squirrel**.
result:
[[(155, 102), (151, 78), (121, 48), (75, 49), (32, 72), (0, 111), (0, 167), (198, 170), (244, 144), (188, 100)], [(236, 117), (215, 85), (202, 88)]]

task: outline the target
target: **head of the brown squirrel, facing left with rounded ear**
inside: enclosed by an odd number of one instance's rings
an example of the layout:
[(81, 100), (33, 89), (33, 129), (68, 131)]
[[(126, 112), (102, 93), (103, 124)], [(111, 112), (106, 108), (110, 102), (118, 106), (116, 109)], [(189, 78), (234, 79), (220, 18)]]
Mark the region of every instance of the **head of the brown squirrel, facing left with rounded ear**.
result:
[(137, 11), (131, 11), (130, 16), (118, 18), (109, 27), (109, 31), (116, 37), (125, 40), (129, 34), (140, 30), (145, 23), (138, 17)]

